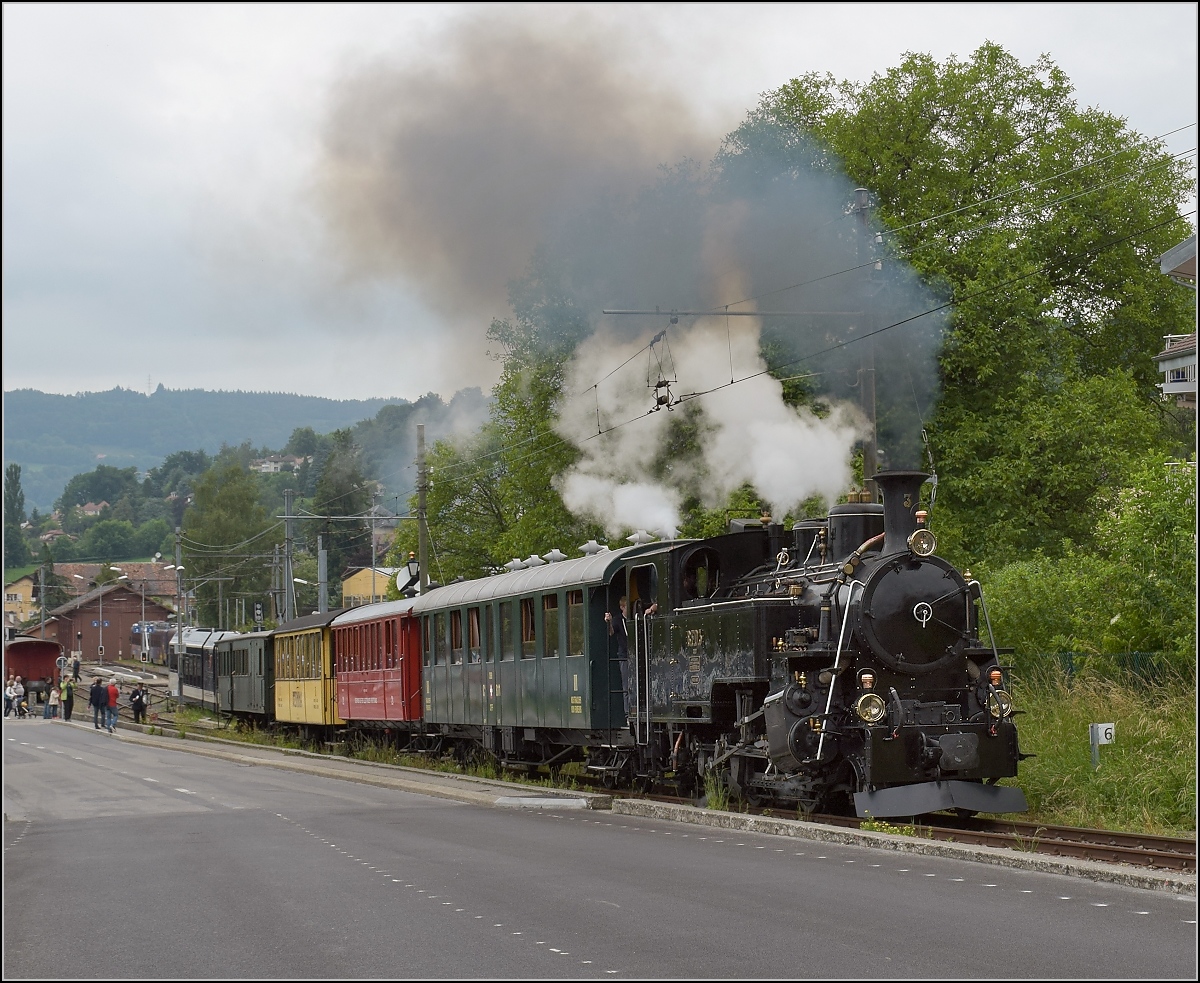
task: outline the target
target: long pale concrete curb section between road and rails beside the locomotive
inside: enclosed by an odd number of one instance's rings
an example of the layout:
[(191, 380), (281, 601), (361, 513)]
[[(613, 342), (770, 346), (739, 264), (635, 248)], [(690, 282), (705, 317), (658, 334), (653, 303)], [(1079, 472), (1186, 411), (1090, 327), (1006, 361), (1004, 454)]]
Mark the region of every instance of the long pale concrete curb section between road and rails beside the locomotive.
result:
[(1021, 853), (995, 846), (965, 846), (917, 837), (898, 837), (890, 833), (821, 826), (815, 822), (804, 822), (803, 820), (767, 819), (764, 816), (746, 816), (740, 813), (718, 813), (710, 809), (697, 809), (691, 805), (646, 802), (644, 799), (616, 799), (612, 804), (612, 811), (614, 815), (686, 822), (692, 826), (708, 826), (718, 829), (739, 829), (748, 833), (797, 837), (799, 839), (822, 843), (871, 846), (877, 850), (890, 850), (896, 853), (949, 857), (959, 861), (986, 863), (994, 867), (1037, 870), (1043, 874), (1066, 874), (1067, 876), (1084, 877), (1097, 882), (1140, 887), (1147, 891), (1168, 891), (1172, 894), (1192, 898), (1196, 897), (1195, 874), (1144, 870), (1135, 867), (1051, 857), (1044, 853)]

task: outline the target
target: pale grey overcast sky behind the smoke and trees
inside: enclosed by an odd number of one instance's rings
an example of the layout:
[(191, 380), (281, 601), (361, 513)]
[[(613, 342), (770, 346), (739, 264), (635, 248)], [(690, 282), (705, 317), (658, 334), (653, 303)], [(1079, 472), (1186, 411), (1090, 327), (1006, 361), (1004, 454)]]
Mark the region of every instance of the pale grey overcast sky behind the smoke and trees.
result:
[[(2, 16), (6, 391), (416, 398), (490, 385), (485, 334), (503, 301), (481, 283), (456, 304), (462, 270), (443, 274), (458, 257), (439, 248), (485, 268), (503, 236), (468, 228), (438, 245), (440, 229), (418, 222), (348, 245), (329, 161), (331, 146), (373, 154), (374, 134), (414, 132), (401, 103), (418, 94), (469, 120), (472, 86), (492, 84), (479, 68), (491, 36), (520, 35), (512, 58), (529, 36), (558, 46), (556, 71), (582, 66), (584, 86), (607, 73), (598, 100), (644, 92), (622, 110), (648, 107), (628, 127), (641, 127), (635, 150), (624, 125), (611, 139), (598, 128), (588, 150), (631, 167), (710, 154), (761, 92), (802, 73), (865, 80), (905, 52), (966, 58), (988, 40), (1024, 64), (1049, 54), (1081, 104), (1147, 136), (1190, 125), (1168, 143), (1196, 145), (1195, 4), (6, 4)], [(492, 70), (534, 64), (512, 58)], [(450, 95), (427, 82), (476, 68)], [(566, 76), (553, 84), (570, 89)], [(426, 146), (436, 170), (442, 144)], [(344, 191), (359, 175), (341, 163)], [(342, 220), (364, 206), (337, 193)]]

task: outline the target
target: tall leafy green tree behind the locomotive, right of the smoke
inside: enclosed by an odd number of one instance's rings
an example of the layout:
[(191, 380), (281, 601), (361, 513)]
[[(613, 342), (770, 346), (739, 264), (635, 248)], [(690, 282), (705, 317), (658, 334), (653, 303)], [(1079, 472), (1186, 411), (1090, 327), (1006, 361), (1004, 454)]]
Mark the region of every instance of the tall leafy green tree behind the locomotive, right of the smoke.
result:
[(1192, 232), (1190, 166), (1080, 108), (1049, 58), (988, 43), (862, 84), (802, 76), (719, 164), (761, 180), (844, 168), (871, 192), (884, 254), (953, 300), (929, 420), (952, 553), (1086, 545), (1139, 454), (1181, 443), (1152, 356), (1194, 330), (1195, 295), (1157, 263)]

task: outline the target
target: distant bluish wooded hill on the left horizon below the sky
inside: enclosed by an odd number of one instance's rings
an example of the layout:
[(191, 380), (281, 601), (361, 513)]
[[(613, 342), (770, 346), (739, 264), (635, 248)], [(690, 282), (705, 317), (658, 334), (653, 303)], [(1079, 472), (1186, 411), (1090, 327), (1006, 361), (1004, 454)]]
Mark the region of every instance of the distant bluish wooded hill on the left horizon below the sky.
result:
[[(444, 407), (437, 396), (419, 402)], [(479, 390), (464, 390), (451, 404), (460, 419), (486, 412)], [(162, 385), (150, 396), (120, 388), (76, 396), (17, 389), (4, 394), (4, 463), (20, 464), (26, 510), (46, 511), (72, 476), (97, 464), (145, 470), (178, 450), (215, 454), (222, 444), (246, 440), (254, 448), (280, 449), (296, 427), (329, 433), (374, 418), (388, 406), (408, 408), (400, 414), (403, 418), (415, 408), (401, 398), (328, 400)]]

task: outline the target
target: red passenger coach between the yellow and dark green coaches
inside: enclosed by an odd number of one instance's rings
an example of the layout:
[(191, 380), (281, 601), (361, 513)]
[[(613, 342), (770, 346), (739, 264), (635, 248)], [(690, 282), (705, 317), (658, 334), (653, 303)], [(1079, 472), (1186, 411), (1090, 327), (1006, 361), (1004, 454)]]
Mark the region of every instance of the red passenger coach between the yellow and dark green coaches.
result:
[(337, 713), (347, 723), (421, 719), (421, 627), (410, 600), (352, 607), (330, 624)]

